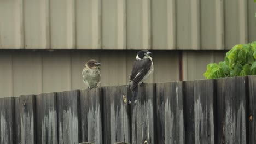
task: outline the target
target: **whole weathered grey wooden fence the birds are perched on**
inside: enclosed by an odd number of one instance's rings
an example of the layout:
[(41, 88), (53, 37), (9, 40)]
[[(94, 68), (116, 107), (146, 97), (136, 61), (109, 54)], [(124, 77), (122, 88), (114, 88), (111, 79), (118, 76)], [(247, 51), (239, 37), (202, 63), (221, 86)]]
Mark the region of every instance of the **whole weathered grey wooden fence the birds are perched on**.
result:
[(1, 143), (256, 143), (256, 76), (0, 99)]

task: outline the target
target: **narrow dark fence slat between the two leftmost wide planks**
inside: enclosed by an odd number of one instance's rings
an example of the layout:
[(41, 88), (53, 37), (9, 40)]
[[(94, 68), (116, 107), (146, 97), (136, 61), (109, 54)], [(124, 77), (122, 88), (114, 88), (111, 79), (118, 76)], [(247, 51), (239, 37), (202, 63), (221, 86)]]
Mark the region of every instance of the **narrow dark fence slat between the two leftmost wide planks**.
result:
[(15, 109), (15, 143), (21, 143), (21, 123), (20, 123), (20, 97), (14, 98), (14, 109)]

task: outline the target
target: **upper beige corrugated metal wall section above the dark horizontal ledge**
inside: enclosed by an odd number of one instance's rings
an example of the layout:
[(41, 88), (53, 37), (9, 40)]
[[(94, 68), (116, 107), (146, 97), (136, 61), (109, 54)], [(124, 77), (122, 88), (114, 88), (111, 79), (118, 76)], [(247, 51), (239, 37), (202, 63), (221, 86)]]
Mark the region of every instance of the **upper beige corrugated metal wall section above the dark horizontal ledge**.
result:
[(231, 49), (256, 39), (253, 0), (0, 0), (0, 48)]

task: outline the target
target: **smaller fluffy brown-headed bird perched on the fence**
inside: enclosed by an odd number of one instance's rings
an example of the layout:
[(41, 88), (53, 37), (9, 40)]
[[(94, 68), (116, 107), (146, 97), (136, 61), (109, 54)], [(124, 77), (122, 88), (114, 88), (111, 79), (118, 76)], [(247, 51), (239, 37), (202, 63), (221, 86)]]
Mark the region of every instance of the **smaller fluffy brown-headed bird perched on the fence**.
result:
[(83, 81), (88, 86), (88, 89), (99, 87), (101, 79), (100, 71), (101, 63), (98, 63), (96, 60), (91, 59), (87, 61), (84, 65), (82, 71)]

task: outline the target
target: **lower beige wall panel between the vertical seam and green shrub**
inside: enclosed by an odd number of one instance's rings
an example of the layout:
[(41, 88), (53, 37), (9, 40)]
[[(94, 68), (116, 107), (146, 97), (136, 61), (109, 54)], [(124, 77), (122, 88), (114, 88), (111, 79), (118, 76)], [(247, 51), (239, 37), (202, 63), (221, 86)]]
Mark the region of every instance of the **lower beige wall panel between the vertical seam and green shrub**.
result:
[(226, 51), (186, 51), (182, 53), (183, 80), (205, 79), (209, 63), (224, 61)]

